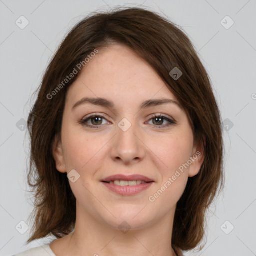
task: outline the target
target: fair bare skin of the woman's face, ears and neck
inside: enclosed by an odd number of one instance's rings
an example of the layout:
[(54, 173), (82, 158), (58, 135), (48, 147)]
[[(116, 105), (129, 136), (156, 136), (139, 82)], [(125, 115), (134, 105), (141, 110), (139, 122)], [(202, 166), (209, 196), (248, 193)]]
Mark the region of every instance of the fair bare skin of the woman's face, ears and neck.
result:
[[(114, 108), (84, 103), (83, 97), (104, 97)], [(196, 175), (204, 160), (194, 145), (185, 111), (173, 103), (139, 110), (142, 101), (156, 98), (177, 100), (155, 70), (126, 46), (100, 49), (69, 87), (63, 112), (61, 138), (55, 140), (56, 168), (80, 177), (69, 180), (76, 197), (73, 233), (54, 240), (50, 247), (58, 255), (175, 255), (170, 241), (176, 203), (188, 177)], [(88, 128), (80, 123), (89, 114)], [(176, 124), (152, 119), (163, 114)], [(126, 118), (131, 126), (123, 131), (118, 123)], [(157, 128), (161, 126), (160, 128)], [(201, 154), (154, 202), (156, 193), (197, 151)], [(141, 174), (152, 180), (146, 190), (130, 196), (110, 191), (100, 182), (114, 174)], [(126, 221), (130, 229), (118, 226)], [(97, 253), (97, 254), (96, 254)]]

